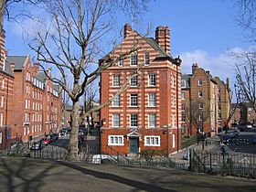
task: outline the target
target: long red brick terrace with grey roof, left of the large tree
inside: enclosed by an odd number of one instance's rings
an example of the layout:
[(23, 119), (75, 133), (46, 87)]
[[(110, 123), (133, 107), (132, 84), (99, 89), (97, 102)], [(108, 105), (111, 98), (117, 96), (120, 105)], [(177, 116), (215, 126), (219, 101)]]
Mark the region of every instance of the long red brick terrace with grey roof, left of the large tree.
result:
[[(12, 137), (27, 141), (44, 133), (58, 131), (61, 93), (59, 86), (48, 80), (38, 64), (32, 68), (28, 56), (10, 56), (14, 66), (14, 128)], [(50, 76), (50, 70), (47, 71)]]

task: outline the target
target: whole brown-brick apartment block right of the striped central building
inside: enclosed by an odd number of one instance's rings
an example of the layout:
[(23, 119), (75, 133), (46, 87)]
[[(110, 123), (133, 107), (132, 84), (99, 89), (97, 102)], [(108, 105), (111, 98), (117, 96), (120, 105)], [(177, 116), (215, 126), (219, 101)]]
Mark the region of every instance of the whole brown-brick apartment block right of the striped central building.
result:
[[(193, 102), (207, 105), (209, 111), (208, 119), (203, 123), (203, 130), (198, 131), (208, 136), (218, 133), (229, 116), (229, 99), (229, 79), (225, 83), (219, 77), (213, 78), (209, 71), (198, 68), (197, 63), (194, 63), (192, 74), (182, 74), (182, 133), (187, 136), (198, 133), (193, 121), (186, 116), (186, 108), (189, 109)], [(198, 109), (202, 109), (202, 105), (198, 104)]]

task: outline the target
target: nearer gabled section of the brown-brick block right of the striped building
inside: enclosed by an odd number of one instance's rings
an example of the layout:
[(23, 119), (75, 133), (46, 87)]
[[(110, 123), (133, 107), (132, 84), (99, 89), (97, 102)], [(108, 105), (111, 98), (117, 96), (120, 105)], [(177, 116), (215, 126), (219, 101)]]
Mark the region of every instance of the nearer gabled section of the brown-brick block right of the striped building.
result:
[(218, 82), (197, 63), (192, 74), (182, 75), (181, 102), (184, 135), (218, 133)]

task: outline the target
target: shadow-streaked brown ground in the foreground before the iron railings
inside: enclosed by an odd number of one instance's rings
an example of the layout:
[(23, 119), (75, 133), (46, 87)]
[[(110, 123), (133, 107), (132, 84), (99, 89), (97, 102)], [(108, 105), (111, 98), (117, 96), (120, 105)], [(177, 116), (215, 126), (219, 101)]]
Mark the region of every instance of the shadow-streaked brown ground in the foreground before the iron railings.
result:
[(0, 192), (255, 191), (256, 182), (166, 168), (0, 157)]

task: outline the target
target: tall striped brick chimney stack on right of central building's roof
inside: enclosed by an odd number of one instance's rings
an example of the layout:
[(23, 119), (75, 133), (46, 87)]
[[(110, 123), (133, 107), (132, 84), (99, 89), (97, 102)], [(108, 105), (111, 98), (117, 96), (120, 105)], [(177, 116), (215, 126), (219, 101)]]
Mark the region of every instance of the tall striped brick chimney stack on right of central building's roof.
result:
[(155, 41), (161, 46), (167, 54), (171, 54), (170, 48), (170, 29), (169, 27), (156, 27), (155, 29)]

